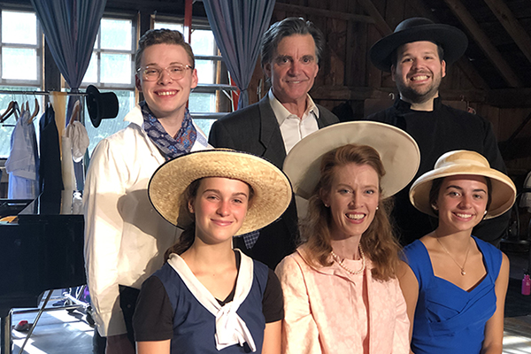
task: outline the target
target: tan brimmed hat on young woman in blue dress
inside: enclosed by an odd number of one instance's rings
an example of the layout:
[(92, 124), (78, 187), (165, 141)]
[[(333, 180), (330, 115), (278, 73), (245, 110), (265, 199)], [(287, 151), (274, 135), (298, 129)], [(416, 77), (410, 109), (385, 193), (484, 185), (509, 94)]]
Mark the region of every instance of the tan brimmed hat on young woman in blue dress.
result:
[(495, 218), (511, 209), (516, 198), (516, 187), (504, 173), (490, 168), (487, 158), (475, 151), (455, 150), (445, 153), (435, 163), (432, 171), (424, 173), (415, 181), (410, 189), (410, 200), (420, 212), (435, 216), (429, 203), (429, 191), (435, 179), (471, 174), (489, 177), (492, 183), (490, 190), (491, 202), (485, 219)]

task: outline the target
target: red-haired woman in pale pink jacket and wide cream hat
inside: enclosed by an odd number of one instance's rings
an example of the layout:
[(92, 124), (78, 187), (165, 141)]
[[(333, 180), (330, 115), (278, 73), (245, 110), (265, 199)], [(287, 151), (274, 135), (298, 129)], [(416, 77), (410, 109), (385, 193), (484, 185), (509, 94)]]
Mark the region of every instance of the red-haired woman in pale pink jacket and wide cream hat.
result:
[(388, 197), (418, 167), (412, 137), (375, 122), (323, 128), (289, 152), (284, 171), (309, 204), (303, 244), (276, 268), (284, 353), (409, 353)]

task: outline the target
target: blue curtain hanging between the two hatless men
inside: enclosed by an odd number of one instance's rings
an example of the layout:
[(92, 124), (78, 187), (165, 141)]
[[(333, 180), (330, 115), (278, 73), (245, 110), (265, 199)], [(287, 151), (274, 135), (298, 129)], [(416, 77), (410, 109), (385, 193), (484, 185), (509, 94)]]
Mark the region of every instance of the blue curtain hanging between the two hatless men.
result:
[(238, 109), (249, 105), (250, 78), (275, 0), (203, 0), (223, 61), (240, 89)]

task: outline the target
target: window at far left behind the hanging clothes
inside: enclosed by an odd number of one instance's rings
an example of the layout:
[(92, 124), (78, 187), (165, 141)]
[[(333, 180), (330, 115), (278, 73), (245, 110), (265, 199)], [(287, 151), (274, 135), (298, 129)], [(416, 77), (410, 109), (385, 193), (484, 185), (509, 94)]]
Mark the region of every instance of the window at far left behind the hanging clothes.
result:
[[(42, 30), (35, 12), (3, 10), (0, 20), (0, 90), (35, 91), (42, 89)], [(42, 96), (0, 94), (0, 112), (11, 101), (35, 110), (35, 98), (42, 107)], [(26, 104), (25, 104), (26, 105)], [(38, 119), (34, 120), (36, 124)], [(7, 158), (14, 115), (0, 124), (0, 158)], [(38, 134), (38, 129), (36, 129)]]

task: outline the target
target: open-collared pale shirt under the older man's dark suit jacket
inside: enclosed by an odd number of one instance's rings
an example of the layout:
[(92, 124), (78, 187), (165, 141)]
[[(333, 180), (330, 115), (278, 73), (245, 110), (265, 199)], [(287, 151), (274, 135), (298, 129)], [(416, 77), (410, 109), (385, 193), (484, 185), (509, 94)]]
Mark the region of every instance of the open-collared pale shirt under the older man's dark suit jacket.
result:
[(297, 142), (300, 142), (306, 135), (311, 135), (319, 130), (317, 119), (319, 119), (319, 108), (313, 103), (310, 95), (306, 96), (306, 111), (303, 118), (298, 118), (291, 114), (286, 107), (273, 95), (273, 89), (269, 90), (269, 104), (273, 108), (274, 115), (281, 128), (282, 140), (289, 153)]

